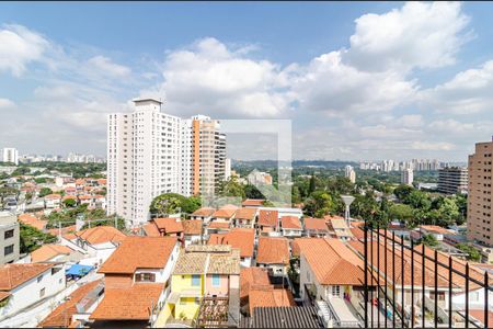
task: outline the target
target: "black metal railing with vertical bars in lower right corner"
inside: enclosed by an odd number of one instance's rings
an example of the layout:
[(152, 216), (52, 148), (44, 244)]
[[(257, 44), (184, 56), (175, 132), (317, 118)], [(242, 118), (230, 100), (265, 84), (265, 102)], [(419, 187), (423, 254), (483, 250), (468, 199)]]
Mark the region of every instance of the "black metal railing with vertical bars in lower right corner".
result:
[[(489, 295), (493, 292), (488, 271), (482, 273), (468, 262), (424, 245), (417, 247), (413, 240), (406, 243), (387, 228), (371, 227), (367, 222), (360, 228), (364, 250), (359, 252), (366, 269), (364, 300), (371, 305), (377, 300), (377, 307), (388, 315), (383, 328), (488, 328), (492, 310)], [(473, 305), (477, 316), (481, 308), (479, 319), (471, 315), (471, 292), (483, 295), (482, 303), (477, 299)], [(461, 298), (463, 305), (457, 302)], [(375, 328), (374, 311), (368, 315), (368, 303), (364, 304), (365, 327)], [(432, 309), (427, 311), (427, 308)], [(380, 328), (380, 311), (377, 317), (377, 328)]]

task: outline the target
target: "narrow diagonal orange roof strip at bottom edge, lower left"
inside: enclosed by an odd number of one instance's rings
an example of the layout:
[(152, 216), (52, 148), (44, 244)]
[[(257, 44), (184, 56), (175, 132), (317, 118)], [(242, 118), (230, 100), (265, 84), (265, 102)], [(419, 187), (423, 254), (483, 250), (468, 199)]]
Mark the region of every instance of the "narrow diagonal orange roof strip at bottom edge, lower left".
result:
[(69, 300), (55, 308), (43, 321), (39, 322), (38, 327), (69, 327), (71, 325), (72, 316), (78, 313), (77, 304), (85, 298), (90, 292), (95, 290), (101, 282), (102, 280), (92, 281), (77, 288), (70, 294)]

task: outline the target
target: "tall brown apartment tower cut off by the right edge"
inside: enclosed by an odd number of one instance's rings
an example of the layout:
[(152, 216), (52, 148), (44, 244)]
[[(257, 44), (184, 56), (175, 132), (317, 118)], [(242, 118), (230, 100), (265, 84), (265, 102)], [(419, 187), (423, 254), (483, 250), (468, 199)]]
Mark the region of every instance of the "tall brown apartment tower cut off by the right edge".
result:
[(469, 156), (468, 239), (493, 246), (493, 141), (478, 143)]

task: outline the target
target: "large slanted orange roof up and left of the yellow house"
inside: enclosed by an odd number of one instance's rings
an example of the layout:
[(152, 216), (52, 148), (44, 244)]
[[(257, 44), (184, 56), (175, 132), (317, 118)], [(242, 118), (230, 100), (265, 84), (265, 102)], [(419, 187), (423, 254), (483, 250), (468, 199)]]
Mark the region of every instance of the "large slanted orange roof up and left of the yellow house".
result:
[(101, 265), (99, 273), (134, 273), (137, 269), (163, 269), (176, 237), (127, 237)]

